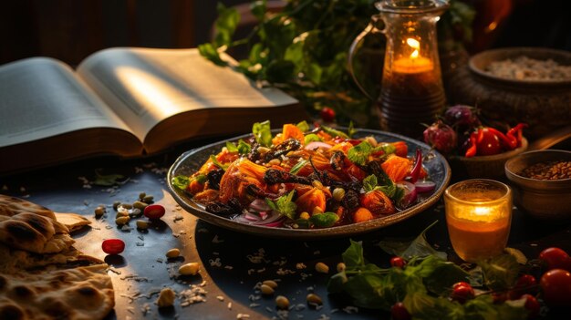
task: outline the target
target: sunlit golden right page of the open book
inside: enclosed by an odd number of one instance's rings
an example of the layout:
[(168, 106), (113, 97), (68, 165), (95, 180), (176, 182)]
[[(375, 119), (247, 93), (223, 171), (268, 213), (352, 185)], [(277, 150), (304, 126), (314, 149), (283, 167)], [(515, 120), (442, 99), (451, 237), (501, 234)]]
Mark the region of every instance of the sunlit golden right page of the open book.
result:
[(267, 108), (297, 101), (255, 88), (192, 49), (111, 48), (85, 59), (78, 74), (144, 140), (163, 119), (200, 108)]

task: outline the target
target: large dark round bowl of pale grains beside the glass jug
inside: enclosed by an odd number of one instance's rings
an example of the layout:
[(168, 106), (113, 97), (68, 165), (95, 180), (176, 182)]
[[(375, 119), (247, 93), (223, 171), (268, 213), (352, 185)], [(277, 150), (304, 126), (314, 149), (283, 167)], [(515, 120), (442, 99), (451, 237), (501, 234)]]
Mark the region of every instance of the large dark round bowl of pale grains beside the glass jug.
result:
[(571, 123), (571, 52), (545, 47), (483, 51), (452, 76), (451, 99), (480, 108), (484, 118), (529, 124), (541, 138)]

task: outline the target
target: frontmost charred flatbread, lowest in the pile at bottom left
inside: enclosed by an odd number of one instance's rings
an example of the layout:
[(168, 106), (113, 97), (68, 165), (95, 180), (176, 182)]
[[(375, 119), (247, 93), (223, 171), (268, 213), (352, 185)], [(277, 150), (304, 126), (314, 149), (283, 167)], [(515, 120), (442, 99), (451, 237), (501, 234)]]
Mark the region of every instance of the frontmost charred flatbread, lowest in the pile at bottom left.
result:
[(107, 267), (0, 274), (0, 319), (102, 319), (115, 305)]

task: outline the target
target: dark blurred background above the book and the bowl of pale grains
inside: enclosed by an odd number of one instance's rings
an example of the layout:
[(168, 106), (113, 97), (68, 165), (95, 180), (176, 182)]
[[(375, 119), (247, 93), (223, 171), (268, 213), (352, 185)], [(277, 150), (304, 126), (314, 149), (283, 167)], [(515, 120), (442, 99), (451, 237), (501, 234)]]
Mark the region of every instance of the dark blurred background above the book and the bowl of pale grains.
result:
[[(571, 50), (569, 1), (463, 1), (477, 10), (474, 40), (469, 48), (472, 53), (498, 46), (547, 46)], [(0, 5), (0, 64), (24, 57), (46, 56), (75, 66), (89, 54), (110, 46), (197, 46), (210, 39), (217, 2), (5, 1)], [(244, 14), (248, 11), (247, 0), (222, 2), (238, 5)], [(273, 5), (285, 3), (268, 2)], [(247, 25), (246, 16), (244, 21)]]

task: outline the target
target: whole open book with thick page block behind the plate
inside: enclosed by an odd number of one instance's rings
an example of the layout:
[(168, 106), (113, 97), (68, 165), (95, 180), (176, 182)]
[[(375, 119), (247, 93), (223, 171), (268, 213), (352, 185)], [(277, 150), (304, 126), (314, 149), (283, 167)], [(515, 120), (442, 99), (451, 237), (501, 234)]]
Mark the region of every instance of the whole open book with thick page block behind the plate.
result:
[(295, 98), (257, 88), (192, 49), (117, 47), (77, 70), (32, 57), (0, 67), (0, 173), (98, 154), (155, 154), (188, 139), (306, 119)]

